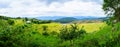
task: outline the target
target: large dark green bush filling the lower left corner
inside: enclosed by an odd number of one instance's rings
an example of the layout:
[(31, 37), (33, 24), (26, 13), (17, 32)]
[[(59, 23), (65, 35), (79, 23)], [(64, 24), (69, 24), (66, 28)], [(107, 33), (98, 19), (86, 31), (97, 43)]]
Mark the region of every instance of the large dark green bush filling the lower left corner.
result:
[[(0, 46), (1, 47), (31, 47), (39, 46), (40, 44), (34, 43), (37, 40), (30, 41), (33, 30), (24, 26), (7, 26), (0, 31)], [(36, 38), (33, 38), (36, 39)], [(32, 45), (31, 45), (32, 43)]]

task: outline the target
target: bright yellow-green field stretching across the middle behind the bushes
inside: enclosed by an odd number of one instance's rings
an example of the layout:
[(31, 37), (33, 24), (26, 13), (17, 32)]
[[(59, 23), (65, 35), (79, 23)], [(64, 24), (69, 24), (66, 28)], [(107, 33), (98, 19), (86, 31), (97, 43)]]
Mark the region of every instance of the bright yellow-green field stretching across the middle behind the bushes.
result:
[[(22, 24), (24, 23), (22, 20), (15, 20), (16, 21), (16, 24), (15, 25), (18, 25), (18, 24)], [(63, 24), (60, 24), (60, 23), (48, 23), (48, 24), (31, 24), (32, 25), (32, 29), (35, 29), (39, 32), (42, 32), (43, 31), (43, 26), (48, 26), (47, 30), (48, 32), (52, 32), (52, 31), (55, 31), (55, 32), (60, 32), (59, 30), (65, 26)], [(70, 24), (66, 24), (66, 25), (70, 25)], [(85, 29), (87, 31), (87, 33), (91, 33), (91, 32), (94, 32), (94, 31), (97, 31), (99, 30), (101, 27), (104, 27), (106, 24), (105, 23), (79, 23), (78, 26), (79, 28), (81, 28), (82, 26), (84, 26), (83, 29)]]

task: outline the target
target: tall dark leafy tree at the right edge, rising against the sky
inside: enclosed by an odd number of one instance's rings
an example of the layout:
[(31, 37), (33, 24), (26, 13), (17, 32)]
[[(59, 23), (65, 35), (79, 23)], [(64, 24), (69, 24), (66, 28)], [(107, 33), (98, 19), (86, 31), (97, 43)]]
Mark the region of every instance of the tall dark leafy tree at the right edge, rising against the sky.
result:
[(120, 22), (120, 0), (104, 0), (103, 10), (112, 21)]

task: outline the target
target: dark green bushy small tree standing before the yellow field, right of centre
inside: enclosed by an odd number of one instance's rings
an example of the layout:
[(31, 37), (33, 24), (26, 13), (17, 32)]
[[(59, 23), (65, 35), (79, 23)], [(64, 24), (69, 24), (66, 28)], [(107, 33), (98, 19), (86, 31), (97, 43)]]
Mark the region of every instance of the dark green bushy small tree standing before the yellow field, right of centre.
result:
[(74, 38), (80, 37), (81, 34), (85, 33), (85, 30), (79, 30), (77, 24), (72, 24), (70, 28), (65, 27), (60, 31), (60, 38), (63, 40), (73, 40)]

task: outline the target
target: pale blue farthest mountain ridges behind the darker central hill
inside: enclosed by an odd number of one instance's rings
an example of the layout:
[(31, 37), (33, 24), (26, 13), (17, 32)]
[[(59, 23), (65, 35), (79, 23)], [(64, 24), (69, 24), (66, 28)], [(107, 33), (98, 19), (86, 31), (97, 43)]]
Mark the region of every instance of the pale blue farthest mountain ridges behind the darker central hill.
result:
[[(58, 20), (58, 19), (66, 19), (67, 16), (41, 16), (41, 17), (36, 17), (36, 19), (39, 20)], [(95, 17), (95, 16), (71, 16), (68, 18), (73, 18), (75, 20), (103, 20), (106, 19), (106, 17)], [(73, 20), (72, 19), (72, 20)]]

